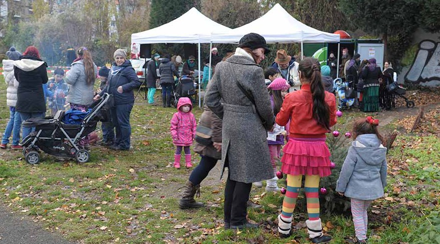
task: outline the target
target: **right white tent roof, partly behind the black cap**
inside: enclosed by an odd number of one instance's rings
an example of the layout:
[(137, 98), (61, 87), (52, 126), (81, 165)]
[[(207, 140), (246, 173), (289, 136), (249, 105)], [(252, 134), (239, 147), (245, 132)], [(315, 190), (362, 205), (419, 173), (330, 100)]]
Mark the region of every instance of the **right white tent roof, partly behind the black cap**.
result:
[(250, 32), (264, 36), (267, 42), (338, 42), (339, 34), (312, 28), (292, 17), (279, 3), (266, 14), (229, 31), (212, 31), (211, 40), (216, 43), (238, 43)]

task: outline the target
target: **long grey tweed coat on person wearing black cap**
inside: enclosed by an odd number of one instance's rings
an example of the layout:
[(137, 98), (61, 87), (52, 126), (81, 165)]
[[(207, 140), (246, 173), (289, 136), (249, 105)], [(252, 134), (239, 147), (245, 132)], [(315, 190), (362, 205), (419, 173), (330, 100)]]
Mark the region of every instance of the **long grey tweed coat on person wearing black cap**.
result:
[[(237, 82), (252, 94), (255, 106)], [(223, 119), (222, 161), (223, 169), (229, 169), (230, 179), (251, 183), (273, 178), (266, 131), (273, 127), (274, 113), (263, 69), (250, 56), (235, 54), (219, 62), (209, 82), (205, 104)]]

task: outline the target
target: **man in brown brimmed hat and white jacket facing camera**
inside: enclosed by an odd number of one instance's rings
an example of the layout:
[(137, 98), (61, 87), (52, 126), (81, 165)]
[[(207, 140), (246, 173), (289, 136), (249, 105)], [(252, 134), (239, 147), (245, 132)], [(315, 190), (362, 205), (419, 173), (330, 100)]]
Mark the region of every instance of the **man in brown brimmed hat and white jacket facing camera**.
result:
[(287, 51), (284, 49), (277, 51), (277, 57), (272, 63), (272, 67), (276, 68), (290, 84), (289, 92), (301, 88), (298, 65), (299, 63), (295, 61), (295, 57), (287, 55)]

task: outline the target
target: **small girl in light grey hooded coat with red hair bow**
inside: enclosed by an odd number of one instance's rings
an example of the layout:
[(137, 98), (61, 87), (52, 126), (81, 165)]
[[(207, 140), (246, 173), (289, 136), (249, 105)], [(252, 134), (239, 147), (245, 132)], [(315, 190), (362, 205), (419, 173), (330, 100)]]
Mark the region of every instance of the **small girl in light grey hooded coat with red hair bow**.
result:
[(387, 148), (378, 131), (379, 120), (368, 116), (355, 121), (353, 138), (339, 174), (336, 191), (351, 198), (357, 243), (367, 243), (367, 208), (384, 195), (387, 185)]

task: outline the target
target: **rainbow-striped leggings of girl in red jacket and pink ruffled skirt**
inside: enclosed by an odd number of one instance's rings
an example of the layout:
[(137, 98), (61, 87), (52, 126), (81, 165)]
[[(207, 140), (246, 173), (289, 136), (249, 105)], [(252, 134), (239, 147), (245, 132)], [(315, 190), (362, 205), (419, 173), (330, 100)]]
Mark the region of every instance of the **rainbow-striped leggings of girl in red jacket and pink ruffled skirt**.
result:
[[(307, 213), (309, 214), (309, 220), (319, 219), (319, 175), (305, 175), (306, 183), (304, 188), (306, 190), (307, 198)], [(283, 200), (283, 210), (281, 216), (284, 218), (292, 217), (293, 210), (295, 209), (296, 199), (298, 198), (298, 192), (301, 188), (301, 181), (303, 175), (291, 175), (287, 174), (287, 192)]]

